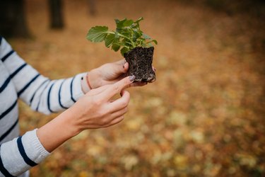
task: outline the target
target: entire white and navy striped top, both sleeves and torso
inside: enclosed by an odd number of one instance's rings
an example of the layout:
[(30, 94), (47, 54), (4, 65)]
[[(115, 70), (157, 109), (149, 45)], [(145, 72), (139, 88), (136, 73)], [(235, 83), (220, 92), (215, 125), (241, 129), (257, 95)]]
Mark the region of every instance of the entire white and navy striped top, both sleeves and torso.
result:
[(49, 80), (0, 37), (0, 176), (28, 176), (28, 169), (49, 155), (36, 130), (18, 137), (18, 98), (41, 113), (64, 110), (83, 96), (82, 76)]

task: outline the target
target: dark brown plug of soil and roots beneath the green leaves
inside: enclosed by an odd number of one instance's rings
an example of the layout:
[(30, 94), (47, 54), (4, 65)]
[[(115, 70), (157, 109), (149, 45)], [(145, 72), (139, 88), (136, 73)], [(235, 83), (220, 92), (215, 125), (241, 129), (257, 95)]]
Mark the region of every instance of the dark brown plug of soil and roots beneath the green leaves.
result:
[(151, 82), (155, 80), (155, 72), (152, 68), (153, 50), (154, 47), (135, 47), (124, 54), (126, 62), (129, 63), (128, 74), (136, 76), (134, 82)]

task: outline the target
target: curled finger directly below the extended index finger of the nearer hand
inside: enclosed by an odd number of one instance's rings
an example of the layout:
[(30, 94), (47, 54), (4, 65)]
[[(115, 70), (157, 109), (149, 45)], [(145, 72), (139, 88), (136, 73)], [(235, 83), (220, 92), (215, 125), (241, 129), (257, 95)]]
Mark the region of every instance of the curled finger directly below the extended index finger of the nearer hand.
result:
[(130, 101), (130, 93), (128, 91), (121, 92), (122, 97), (115, 101), (112, 101), (109, 106), (112, 109), (112, 113), (126, 108)]

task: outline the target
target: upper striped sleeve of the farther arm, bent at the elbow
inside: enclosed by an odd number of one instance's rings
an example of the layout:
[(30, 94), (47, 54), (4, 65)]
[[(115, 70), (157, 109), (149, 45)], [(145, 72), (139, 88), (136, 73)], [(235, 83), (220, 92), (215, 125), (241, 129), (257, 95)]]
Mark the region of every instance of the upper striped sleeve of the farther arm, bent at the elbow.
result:
[(20, 58), (4, 38), (1, 38), (0, 59), (10, 74), (18, 97), (33, 110), (49, 114), (69, 108), (83, 96), (81, 77), (49, 80)]

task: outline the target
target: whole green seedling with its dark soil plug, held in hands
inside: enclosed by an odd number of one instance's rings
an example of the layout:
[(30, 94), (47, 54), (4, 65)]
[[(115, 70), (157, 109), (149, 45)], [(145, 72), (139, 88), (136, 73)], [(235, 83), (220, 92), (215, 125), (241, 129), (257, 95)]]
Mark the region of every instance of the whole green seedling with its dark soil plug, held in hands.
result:
[(129, 62), (129, 75), (136, 76), (134, 81), (148, 81), (155, 79), (152, 69), (153, 44), (158, 44), (150, 36), (140, 29), (139, 18), (136, 21), (115, 19), (116, 30), (109, 30), (107, 26), (95, 26), (90, 28), (86, 38), (91, 42), (105, 41), (106, 47), (111, 47), (115, 52), (121, 52), (126, 61)]

